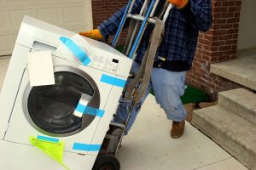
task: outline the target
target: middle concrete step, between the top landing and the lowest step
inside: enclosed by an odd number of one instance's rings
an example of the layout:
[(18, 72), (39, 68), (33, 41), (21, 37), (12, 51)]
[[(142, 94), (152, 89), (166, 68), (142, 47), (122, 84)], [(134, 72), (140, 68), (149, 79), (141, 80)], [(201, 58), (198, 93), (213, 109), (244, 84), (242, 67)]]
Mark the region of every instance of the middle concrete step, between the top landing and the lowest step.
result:
[(221, 92), (218, 105), (256, 125), (256, 94), (243, 88)]

